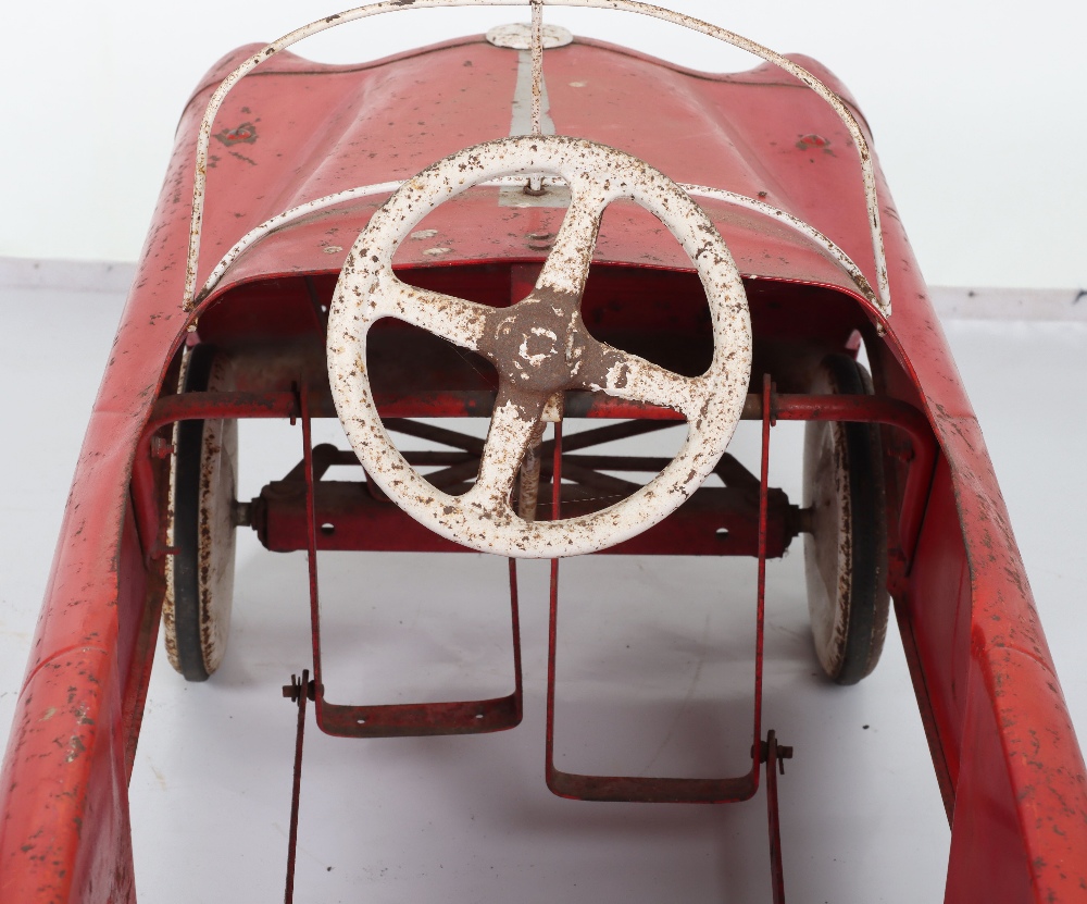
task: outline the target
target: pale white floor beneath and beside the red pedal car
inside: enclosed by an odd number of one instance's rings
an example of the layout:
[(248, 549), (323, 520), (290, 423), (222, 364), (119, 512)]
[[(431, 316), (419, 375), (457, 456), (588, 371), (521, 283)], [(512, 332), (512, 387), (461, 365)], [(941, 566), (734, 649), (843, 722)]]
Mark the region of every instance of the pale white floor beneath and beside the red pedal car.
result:
[[(7, 289), (10, 388), (0, 496), (0, 736), (5, 736), (79, 441), (120, 314), (116, 293)], [(48, 342), (46, 339), (49, 331)], [(1087, 727), (1080, 387), (1087, 324), (947, 325), (1011, 509), (1073, 718)], [(797, 492), (789, 428), (775, 480)], [(791, 436), (796, 438), (796, 433)], [(286, 445), (276, 447), (273, 439)], [(286, 473), (298, 438), (242, 434), (243, 494)], [(795, 444), (794, 444), (795, 445)], [(796, 747), (782, 780), (790, 901), (942, 896), (949, 832), (897, 634), (852, 689), (819, 679), (800, 547), (771, 565), (765, 726)], [(730, 775), (750, 741), (753, 564), (563, 565), (560, 766)], [(328, 695), (491, 696), (512, 682), (504, 562), (323, 555)], [(522, 567), (525, 720), (496, 735), (305, 740), (300, 902), (762, 902), (762, 793), (726, 807), (575, 803), (544, 787), (547, 574)], [(222, 670), (186, 684), (157, 661), (132, 781), (141, 901), (280, 900), (295, 710), (309, 665), (305, 564), (246, 534)], [(447, 697), (448, 698), (448, 697)]]

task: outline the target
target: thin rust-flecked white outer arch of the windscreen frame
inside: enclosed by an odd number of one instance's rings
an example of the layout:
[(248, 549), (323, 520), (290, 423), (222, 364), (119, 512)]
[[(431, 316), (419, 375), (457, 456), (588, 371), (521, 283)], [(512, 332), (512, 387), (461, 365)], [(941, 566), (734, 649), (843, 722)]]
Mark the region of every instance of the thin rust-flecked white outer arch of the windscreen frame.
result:
[[(830, 106), (835, 113), (837, 113), (842, 124), (849, 131), (860, 157), (865, 205), (867, 207), (869, 230), (872, 236), (872, 252), (876, 267), (875, 282), (877, 286), (878, 310), (884, 317), (890, 317), (890, 287), (887, 278), (887, 262), (884, 253), (883, 232), (879, 226), (879, 207), (878, 199), (876, 197), (876, 182), (872, 165), (872, 153), (853, 114), (849, 112), (845, 103), (834, 91), (827, 88), (810, 72), (801, 66), (798, 66), (791, 60), (786, 59), (782, 54), (775, 53), (773, 50), (755, 44), (754, 41), (748, 40), (747, 38), (733, 32), (728, 32), (716, 25), (711, 25), (708, 22), (702, 22), (701, 20), (683, 13), (673, 12), (671, 10), (665, 10), (661, 7), (654, 7), (648, 3), (637, 2), (637, 0), (546, 0), (546, 3), (547, 5), (552, 7), (590, 7), (639, 13), (641, 15), (648, 15), (653, 18), (671, 22), (676, 25), (690, 28), (695, 32), (700, 32), (704, 35), (716, 38), (717, 40), (730, 44), (734, 47), (747, 50), (757, 57), (761, 57), (767, 62), (774, 63), (799, 78), (821, 98), (823, 98), (823, 100)], [(290, 47), (291, 45), (297, 44), (311, 35), (318, 34), (337, 25), (343, 25), (348, 22), (367, 18), (372, 15), (380, 15), (383, 13), (400, 12), (404, 10), (423, 10), (439, 7), (497, 5), (538, 7), (540, 5), (540, 2), (538, 2), (538, 0), (412, 0), (412, 2), (407, 3), (404, 0), (385, 0), (385, 2), (380, 3), (357, 7), (355, 9), (348, 10), (337, 15), (326, 16), (325, 18), (321, 18), (315, 22), (311, 22), (308, 25), (303, 25), (300, 28), (296, 28), (293, 32), (284, 35), (282, 38), (273, 41), (260, 52), (250, 57), (246, 60), (246, 62), (234, 70), (234, 72), (227, 75), (212, 95), (211, 100), (208, 102), (208, 108), (204, 111), (203, 119), (200, 123), (200, 131), (197, 136), (196, 163), (192, 181), (192, 214), (189, 227), (189, 247), (186, 260), (185, 289), (182, 299), (183, 310), (187, 312), (192, 311), (197, 302), (205, 297), (205, 295), (201, 293), (198, 298), (196, 288), (197, 265), (200, 259), (200, 236), (203, 228), (204, 188), (208, 176), (208, 146), (211, 141), (211, 132), (212, 125), (215, 121), (215, 115), (218, 113), (218, 110), (222, 107), (223, 101), (226, 99), (226, 96), (230, 92), (230, 89), (241, 78), (257, 69), (257, 66), (265, 60), (278, 53), (280, 50), (284, 50), (285, 48)]]

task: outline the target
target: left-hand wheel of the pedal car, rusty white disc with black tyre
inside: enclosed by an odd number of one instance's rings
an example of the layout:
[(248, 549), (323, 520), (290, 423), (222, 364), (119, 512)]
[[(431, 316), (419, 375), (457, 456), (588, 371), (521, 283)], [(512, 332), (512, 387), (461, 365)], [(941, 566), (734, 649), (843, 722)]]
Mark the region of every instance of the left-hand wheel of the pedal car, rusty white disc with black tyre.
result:
[[(192, 349), (183, 392), (233, 388), (230, 362), (211, 346)], [(166, 595), (162, 622), (171, 665), (205, 681), (223, 661), (234, 599), (238, 422), (180, 421), (170, 480)]]

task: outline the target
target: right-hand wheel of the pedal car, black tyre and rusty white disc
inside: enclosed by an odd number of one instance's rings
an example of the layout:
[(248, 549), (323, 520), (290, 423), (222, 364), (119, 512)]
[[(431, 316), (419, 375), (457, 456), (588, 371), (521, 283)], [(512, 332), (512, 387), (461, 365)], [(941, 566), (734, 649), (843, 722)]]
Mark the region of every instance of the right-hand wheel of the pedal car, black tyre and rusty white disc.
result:
[[(814, 394), (872, 394), (867, 372), (830, 355)], [(804, 430), (803, 505), (808, 609), (815, 653), (838, 684), (855, 684), (879, 660), (887, 633), (887, 515), (879, 428), (809, 421)]]

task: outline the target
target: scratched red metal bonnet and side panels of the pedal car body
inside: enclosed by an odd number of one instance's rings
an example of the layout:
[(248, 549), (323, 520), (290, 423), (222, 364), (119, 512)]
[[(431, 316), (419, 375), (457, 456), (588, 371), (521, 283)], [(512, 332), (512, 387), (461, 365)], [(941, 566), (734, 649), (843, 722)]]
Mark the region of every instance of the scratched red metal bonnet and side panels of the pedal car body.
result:
[[(166, 466), (150, 451), (148, 425), (157, 401), (172, 392), (164, 387), (176, 380), (189, 322), (180, 301), (195, 134), (211, 90), (253, 51), (243, 48), (214, 67), (185, 110), (95, 405), (4, 759), (5, 902), (135, 900), (126, 788), (165, 555), (159, 512)], [(802, 62), (848, 101), (833, 76)], [(549, 50), (545, 65), (558, 134), (621, 148), (677, 182), (765, 199), (873, 272), (857, 152), (834, 113), (790, 76), (771, 66), (705, 75), (583, 40)], [(482, 38), (360, 66), (273, 59), (239, 84), (213, 128), (198, 283), (246, 232), (287, 208), (409, 178), (463, 147), (507, 136), (516, 77), (517, 54)], [(805, 140), (812, 136), (819, 140)], [(746, 277), (757, 370), (773, 370), (810, 335), (819, 337), (820, 354), (826, 345), (844, 347), (855, 329), (877, 393), (919, 409), (935, 437), (930, 490), (922, 487), (913, 509), (903, 506), (897, 525), (902, 562), (892, 592), (952, 823), (947, 900), (1087, 901), (1083, 757), (977, 421), (877, 176), (895, 306), (888, 319), (807, 239), (721, 201), (700, 203)], [(564, 211), (503, 207), (501, 190), (475, 189), (439, 208), (424, 224), (436, 232), (404, 243), (398, 267), (420, 285), (448, 290), (460, 278), (509, 304), (546, 256), (533, 236), (557, 232)], [(313, 309), (291, 299), (307, 276), (317, 296), (330, 293), (347, 249), (385, 197), (311, 214), (250, 248), (201, 304), (201, 339), (302, 336), (286, 357), (308, 359), (320, 340), (311, 335)], [(666, 281), (689, 278), (690, 262), (675, 242), (661, 240), (659, 226), (634, 206), (614, 206), (597, 245), (595, 262), (603, 267), (586, 294), (587, 322), (595, 312), (601, 330), (622, 334), (600, 301), (608, 280), (639, 273), (637, 285), (626, 286), (639, 301), (639, 290), (651, 298)], [(509, 269), (508, 283), (493, 277), (496, 265)], [(263, 307), (253, 301), (258, 286)], [(783, 307), (786, 292), (800, 304)], [(654, 313), (647, 301), (639, 329), (672, 315)], [(773, 343), (760, 346), (761, 332)], [(315, 404), (327, 406), (327, 388), (317, 385), (323, 376), (309, 376)], [(780, 382), (795, 392), (787, 374)], [(465, 396), (440, 394), (455, 388), (432, 386), (428, 397), (399, 411), (396, 380), (377, 386), (383, 413), (416, 417), (457, 413)], [(298, 413), (289, 383), (271, 386), (278, 395), (267, 385), (239, 389), (257, 394), (247, 417)], [(778, 417), (803, 417), (785, 408)], [(920, 448), (914, 444), (915, 454)], [(404, 543), (425, 542), (403, 530)]]

